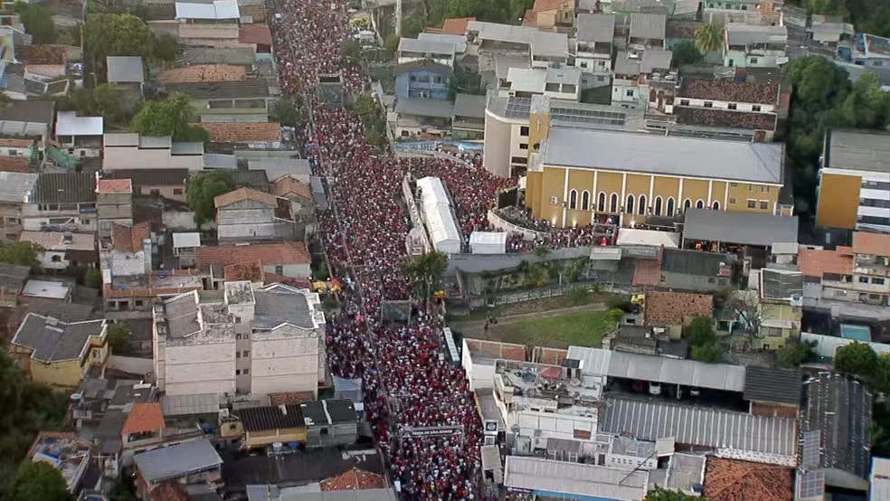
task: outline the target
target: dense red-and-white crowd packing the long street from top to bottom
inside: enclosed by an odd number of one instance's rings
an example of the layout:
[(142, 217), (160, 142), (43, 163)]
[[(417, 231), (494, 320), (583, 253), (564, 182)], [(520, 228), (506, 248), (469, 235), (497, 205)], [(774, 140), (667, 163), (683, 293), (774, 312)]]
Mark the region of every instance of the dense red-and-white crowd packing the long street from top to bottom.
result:
[[(439, 356), (435, 317), (421, 311), (404, 326), (385, 325), (380, 315), (383, 300), (411, 298), (399, 268), (410, 226), (398, 198), (402, 165), (372, 153), (354, 114), (325, 107), (312, 93), (319, 75), (338, 68), (346, 5), (283, 0), (273, 6), (280, 14), (274, 32), (282, 89), (303, 93), (311, 105), (312, 165), (327, 176), (333, 207), (321, 229), (333, 272), (347, 284), (344, 306), (328, 324), (331, 370), (362, 378), (365, 412), (402, 498), (477, 498), (481, 423), (466, 375)], [(446, 426), (459, 433), (412, 435), (415, 427)]]

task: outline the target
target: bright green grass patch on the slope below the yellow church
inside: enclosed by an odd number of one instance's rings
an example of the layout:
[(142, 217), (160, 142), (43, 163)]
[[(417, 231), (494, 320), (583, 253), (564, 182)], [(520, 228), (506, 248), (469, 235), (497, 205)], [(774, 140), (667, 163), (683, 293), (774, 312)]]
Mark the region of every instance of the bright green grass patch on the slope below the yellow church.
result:
[(597, 310), (497, 324), (488, 327), (488, 337), (520, 345), (600, 347), (602, 336), (614, 328), (609, 312)]

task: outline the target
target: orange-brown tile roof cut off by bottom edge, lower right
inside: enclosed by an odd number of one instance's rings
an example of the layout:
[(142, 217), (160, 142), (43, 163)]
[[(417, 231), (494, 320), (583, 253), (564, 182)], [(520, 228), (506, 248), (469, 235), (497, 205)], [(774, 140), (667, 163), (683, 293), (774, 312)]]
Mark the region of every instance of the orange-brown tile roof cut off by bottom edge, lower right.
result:
[(705, 497), (708, 501), (791, 501), (794, 478), (791, 468), (707, 458)]

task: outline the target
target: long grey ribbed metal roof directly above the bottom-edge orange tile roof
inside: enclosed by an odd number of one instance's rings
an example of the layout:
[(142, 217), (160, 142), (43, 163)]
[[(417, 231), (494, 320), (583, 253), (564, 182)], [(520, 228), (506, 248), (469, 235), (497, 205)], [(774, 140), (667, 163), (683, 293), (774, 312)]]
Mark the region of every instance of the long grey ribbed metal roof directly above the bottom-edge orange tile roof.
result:
[(724, 455), (797, 464), (797, 421), (746, 412), (612, 398), (599, 414), (599, 431), (638, 440), (674, 437), (678, 444), (721, 449)]

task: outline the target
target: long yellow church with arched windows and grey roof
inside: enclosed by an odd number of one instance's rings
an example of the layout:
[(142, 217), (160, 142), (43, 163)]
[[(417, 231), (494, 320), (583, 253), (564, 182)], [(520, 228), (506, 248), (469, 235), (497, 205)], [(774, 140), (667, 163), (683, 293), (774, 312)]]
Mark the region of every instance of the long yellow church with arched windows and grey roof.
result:
[(693, 203), (778, 213), (780, 144), (553, 127), (549, 115), (531, 115), (525, 205), (537, 219), (559, 227), (609, 218), (629, 225), (674, 216)]

